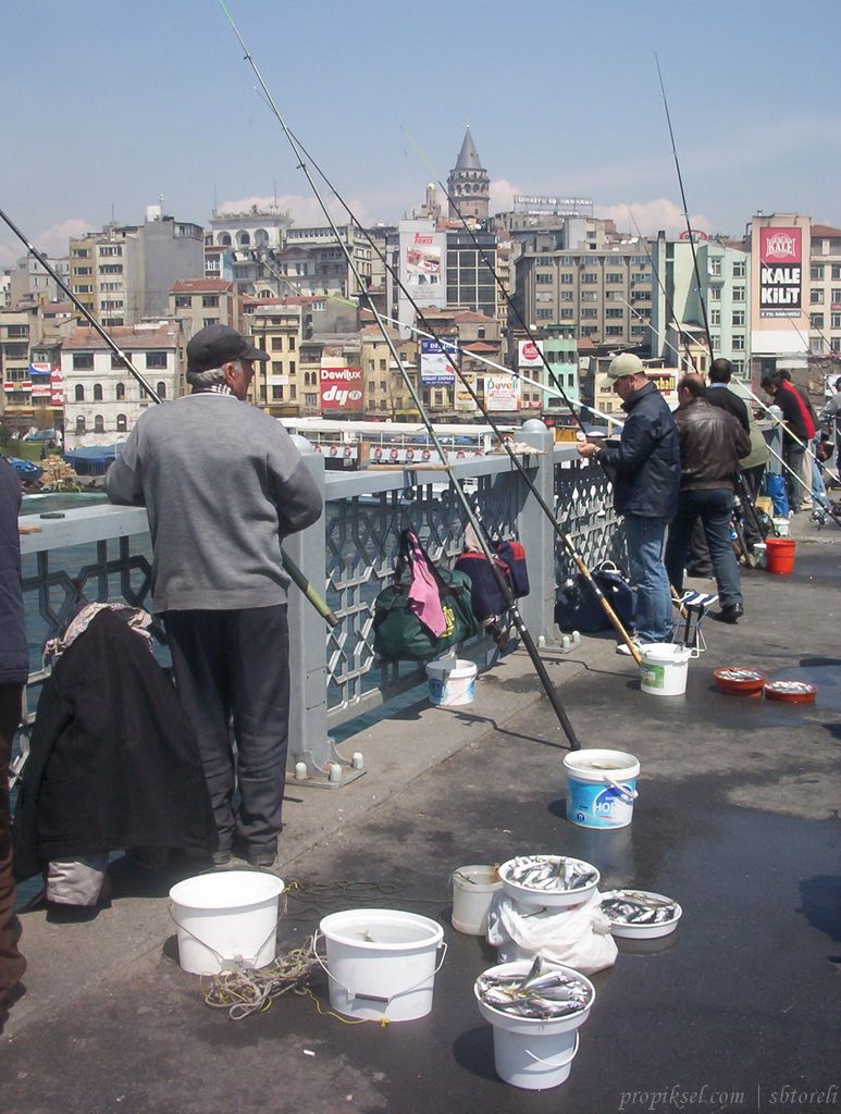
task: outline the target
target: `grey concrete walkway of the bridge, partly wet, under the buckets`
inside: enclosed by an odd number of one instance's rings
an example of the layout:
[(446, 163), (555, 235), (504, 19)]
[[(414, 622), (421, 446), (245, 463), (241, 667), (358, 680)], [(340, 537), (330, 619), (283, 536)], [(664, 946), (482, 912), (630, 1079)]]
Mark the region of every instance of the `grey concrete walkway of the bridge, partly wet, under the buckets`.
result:
[[(449, 951), (427, 1018), (344, 1025), (301, 996), (229, 1020), (172, 958), (175, 874), (120, 862), (114, 905), (90, 924), (23, 916), (27, 993), (0, 1037), (0, 1110), (841, 1111), (841, 531), (801, 516), (793, 534), (794, 575), (745, 576), (745, 619), (705, 623), (685, 696), (640, 693), (608, 635), (547, 652), (583, 745), (642, 762), (630, 828), (566, 821), (566, 740), (520, 653), (481, 677), (472, 705), (421, 705), (350, 740), (343, 751), (363, 751), (370, 772), (348, 788), (290, 789), (278, 872), (302, 889), (280, 950), (335, 909), (437, 919)], [(818, 701), (722, 696), (712, 672), (725, 665), (811, 680)], [(684, 918), (647, 954), (620, 944), (594, 976), (569, 1081), (531, 1093), (495, 1075), (472, 996), (495, 951), (452, 930), (448, 879), (538, 851), (595, 863), (603, 889), (668, 893)], [(313, 989), (326, 1001), (324, 983)]]

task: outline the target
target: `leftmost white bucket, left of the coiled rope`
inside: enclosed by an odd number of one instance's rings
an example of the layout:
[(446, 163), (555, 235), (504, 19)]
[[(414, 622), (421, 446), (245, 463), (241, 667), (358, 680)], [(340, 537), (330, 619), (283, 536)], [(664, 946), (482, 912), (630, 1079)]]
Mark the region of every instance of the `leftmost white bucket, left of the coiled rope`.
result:
[(178, 962), (194, 975), (218, 975), (237, 960), (267, 967), (277, 950), (283, 882), (260, 870), (221, 870), (185, 878), (169, 890), (178, 929)]

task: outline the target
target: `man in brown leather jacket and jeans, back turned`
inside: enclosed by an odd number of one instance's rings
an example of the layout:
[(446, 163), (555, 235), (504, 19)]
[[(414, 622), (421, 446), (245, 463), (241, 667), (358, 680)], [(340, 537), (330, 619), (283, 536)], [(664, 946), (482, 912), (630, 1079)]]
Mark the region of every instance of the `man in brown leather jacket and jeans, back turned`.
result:
[(750, 452), (751, 439), (739, 420), (711, 405), (705, 393), (701, 375), (685, 375), (677, 384), (681, 494), (677, 515), (668, 528), (666, 571), (681, 593), (692, 528), (701, 518), (718, 586), (721, 610), (714, 617), (737, 623), (744, 615), (744, 600), (730, 531), (739, 458)]

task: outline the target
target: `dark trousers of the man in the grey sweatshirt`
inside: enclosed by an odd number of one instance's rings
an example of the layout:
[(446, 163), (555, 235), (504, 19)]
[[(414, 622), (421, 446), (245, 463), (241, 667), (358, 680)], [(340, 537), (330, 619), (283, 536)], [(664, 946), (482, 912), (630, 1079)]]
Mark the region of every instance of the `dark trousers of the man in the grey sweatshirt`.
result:
[(198, 736), (219, 850), (274, 851), (289, 745), (286, 605), (166, 612), (164, 623), (178, 695)]

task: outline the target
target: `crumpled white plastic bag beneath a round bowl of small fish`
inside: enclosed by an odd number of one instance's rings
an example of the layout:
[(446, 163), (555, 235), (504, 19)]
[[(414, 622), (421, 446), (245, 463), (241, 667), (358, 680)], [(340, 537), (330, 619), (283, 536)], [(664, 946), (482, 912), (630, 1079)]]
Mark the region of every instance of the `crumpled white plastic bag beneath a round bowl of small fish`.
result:
[(539, 955), (549, 962), (566, 964), (583, 975), (612, 967), (617, 955), (598, 890), (575, 909), (537, 911), (500, 890), (488, 910), (488, 944), (499, 948), (500, 962), (521, 959), (525, 952), (528, 958)]

